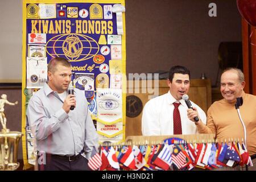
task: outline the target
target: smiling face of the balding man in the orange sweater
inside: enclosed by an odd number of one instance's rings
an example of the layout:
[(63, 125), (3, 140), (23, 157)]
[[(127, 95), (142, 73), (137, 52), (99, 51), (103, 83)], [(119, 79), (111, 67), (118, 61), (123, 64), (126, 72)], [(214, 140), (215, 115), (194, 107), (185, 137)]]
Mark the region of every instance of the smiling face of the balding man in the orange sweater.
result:
[(245, 81), (240, 82), (236, 71), (230, 70), (221, 75), (221, 94), (226, 101), (232, 103), (236, 101), (237, 97), (242, 96)]

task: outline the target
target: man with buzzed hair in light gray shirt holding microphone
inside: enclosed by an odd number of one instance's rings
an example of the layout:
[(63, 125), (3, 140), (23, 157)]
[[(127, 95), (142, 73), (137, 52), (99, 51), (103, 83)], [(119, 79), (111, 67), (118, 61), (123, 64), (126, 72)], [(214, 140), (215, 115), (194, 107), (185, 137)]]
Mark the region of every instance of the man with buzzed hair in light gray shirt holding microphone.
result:
[(53, 58), (47, 74), (48, 83), (31, 97), (27, 107), (38, 157), (46, 157), (39, 170), (89, 170), (87, 163), (93, 147), (97, 150), (98, 134), (85, 94), (76, 88), (74, 94), (68, 93), (72, 67), (66, 59)]

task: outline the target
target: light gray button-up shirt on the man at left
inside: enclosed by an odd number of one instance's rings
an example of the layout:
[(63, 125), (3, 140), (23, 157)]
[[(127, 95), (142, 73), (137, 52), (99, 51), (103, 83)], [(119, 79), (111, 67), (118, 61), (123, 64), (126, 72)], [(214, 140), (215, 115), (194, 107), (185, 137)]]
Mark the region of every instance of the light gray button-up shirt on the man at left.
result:
[[(67, 91), (66, 91), (67, 92)], [(38, 151), (57, 155), (77, 155), (84, 148), (89, 159), (98, 146), (98, 134), (82, 90), (74, 90), (76, 107), (67, 114), (59, 94), (44, 84), (27, 106), (28, 123), (36, 137)], [(67, 93), (68, 95), (68, 93)]]

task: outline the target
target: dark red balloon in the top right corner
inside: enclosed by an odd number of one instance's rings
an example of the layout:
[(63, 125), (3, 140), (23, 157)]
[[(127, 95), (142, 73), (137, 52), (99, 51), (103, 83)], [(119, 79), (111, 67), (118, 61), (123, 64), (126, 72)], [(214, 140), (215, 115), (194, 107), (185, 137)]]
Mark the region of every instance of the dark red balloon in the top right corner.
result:
[(237, 0), (240, 14), (251, 26), (256, 26), (256, 0)]

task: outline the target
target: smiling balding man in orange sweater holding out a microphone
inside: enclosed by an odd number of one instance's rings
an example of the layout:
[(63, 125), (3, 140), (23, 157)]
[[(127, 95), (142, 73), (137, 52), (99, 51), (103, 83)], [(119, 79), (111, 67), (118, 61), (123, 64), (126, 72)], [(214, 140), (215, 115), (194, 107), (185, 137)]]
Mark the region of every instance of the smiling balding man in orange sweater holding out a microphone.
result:
[[(221, 94), (224, 97), (220, 101), (214, 102), (207, 111), (207, 124), (199, 119), (195, 122), (199, 133), (214, 133), (218, 142), (229, 139), (244, 139), (243, 126), (238, 116), (235, 104), (237, 97), (243, 98), (240, 106), (240, 113), (246, 127), (247, 150), (253, 160), (253, 167), (256, 170), (256, 96), (246, 94), (243, 91), (245, 81), (243, 73), (237, 68), (228, 68), (221, 75)], [(188, 109), (188, 118), (193, 120), (197, 115), (197, 110)]]

